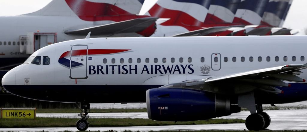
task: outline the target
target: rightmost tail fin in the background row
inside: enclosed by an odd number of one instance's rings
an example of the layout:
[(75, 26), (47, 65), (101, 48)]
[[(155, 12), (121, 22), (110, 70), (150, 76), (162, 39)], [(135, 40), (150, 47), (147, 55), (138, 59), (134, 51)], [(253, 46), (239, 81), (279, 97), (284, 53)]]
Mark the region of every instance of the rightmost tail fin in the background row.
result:
[(274, 0), (270, 1), (263, 14), (261, 25), (281, 27), (285, 21), (292, 0)]

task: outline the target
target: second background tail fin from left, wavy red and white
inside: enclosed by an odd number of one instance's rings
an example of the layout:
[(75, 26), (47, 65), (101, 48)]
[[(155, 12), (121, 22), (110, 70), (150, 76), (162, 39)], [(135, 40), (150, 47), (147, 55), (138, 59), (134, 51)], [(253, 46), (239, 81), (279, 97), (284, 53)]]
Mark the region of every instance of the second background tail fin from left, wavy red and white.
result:
[(206, 18), (211, 0), (158, 0), (145, 14), (169, 18), (161, 25), (201, 26)]

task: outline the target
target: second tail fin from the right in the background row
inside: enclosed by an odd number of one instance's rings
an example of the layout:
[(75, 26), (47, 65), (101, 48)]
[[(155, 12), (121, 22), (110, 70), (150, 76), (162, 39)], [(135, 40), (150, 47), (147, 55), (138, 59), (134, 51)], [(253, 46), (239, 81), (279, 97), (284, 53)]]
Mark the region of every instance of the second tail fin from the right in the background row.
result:
[(233, 23), (259, 25), (269, 0), (241, 0)]

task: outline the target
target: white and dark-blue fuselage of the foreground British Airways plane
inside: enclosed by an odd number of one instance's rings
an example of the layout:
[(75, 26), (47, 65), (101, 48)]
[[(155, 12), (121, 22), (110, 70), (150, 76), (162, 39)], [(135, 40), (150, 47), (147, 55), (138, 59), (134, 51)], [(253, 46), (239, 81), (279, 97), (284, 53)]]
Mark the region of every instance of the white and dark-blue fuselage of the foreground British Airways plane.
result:
[[(4, 76), (2, 83), (11, 93), (30, 99), (144, 102), (146, 90), (169, 83), (286, 64), (305, 64), (306, 39), (307, 36), (243, 36), (65, 41), (31, 55), (48, 56), (50, 64), (44, 65), (42, 59), (41, 64), (19, 65)], [(299, 77), (307, 78), (306, 70), (302, 72)], [(262, 104), (307, 99), (307, 85), (287, 83), (292, 86), (278, 87), (285, 91), (284, 94), (260, 92), (255, 95), (256, 99), (261, 97), (258, 101)], [(82, 92), (85, 92), (84, 96), (80, 96)]]

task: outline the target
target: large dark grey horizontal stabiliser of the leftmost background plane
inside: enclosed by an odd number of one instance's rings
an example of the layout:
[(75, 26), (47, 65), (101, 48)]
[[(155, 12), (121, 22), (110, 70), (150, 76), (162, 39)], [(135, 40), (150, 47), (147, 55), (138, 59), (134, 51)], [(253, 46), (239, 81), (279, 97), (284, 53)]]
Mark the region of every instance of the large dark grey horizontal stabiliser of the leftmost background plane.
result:
[(142, 31), (152, 25), (158, 18), (157, 17), (144, 17), (136, 18), (127, 21), (120, 21), (106, 25), (99, 25), (84, 29), (76, 30), (66, 30), (65, 34), (68, 35), (84, 35), (86, 36), (88, 32), (91, 32), (91, 35), (108, 35), (115, 33), (135, 33)]

